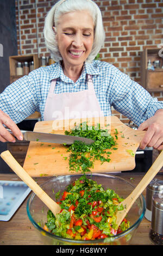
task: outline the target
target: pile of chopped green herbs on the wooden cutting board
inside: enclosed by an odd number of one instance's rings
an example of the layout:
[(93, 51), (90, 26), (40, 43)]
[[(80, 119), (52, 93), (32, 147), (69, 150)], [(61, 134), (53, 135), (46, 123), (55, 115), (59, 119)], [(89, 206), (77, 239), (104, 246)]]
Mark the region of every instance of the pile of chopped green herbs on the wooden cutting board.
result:
[[(118, 133), (117, 129), (115, 129), (115, 133)], [(68, 148), (67, 151), (71, 152), (69, 157), (71, 172), (90, 172), (95, 160), (100, 160), (102, 163), (111, 161), (111, 153), (106, 150), (117, 150), (115, 147), (117, 142), (115, 142), (114, 137), (108, 133), (107, 129), (101, 129), (99, 124), (95, 127), (88, 126), (86, 122), (83, 122), (78, 126), (74, 126), (71, 131), (65, 131), (65, 135), (90, 138), (94, 141), (90, 145), (86, 145), (81, 141), (74, 141), (72, 145), (65, 145)], [(117, 139), (117, 135), (115, 136)]]

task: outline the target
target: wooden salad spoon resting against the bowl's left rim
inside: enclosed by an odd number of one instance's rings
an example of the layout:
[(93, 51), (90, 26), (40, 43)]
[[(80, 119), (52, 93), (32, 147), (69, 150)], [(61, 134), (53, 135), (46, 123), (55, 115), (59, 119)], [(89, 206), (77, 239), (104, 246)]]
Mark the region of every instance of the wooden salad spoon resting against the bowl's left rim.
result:
[(8, 166), (14, 170), (14, 172), (19, 176), (28, 187), (39, 197), (43, 203), (46, 204), (48, 209), (50, 209), (53, 214), (56, 216), (61, 210), (59, 204), (55, 203), (54, 200), (49, 197), (42, 188), (37, 185), (37, 183), (29, 176), (29, 174), (24, 170), (21, 165), (15, 160), (11, 155), (10, 151), (4, 151), (1, 153), (2, 159), (8, 164)]

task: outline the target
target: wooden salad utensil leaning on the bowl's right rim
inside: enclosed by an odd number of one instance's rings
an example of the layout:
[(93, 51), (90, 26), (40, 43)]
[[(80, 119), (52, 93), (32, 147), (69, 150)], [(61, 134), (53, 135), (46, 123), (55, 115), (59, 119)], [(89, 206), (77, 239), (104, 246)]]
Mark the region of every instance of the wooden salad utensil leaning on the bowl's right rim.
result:
[(163, 150), (152, 164), (151, 168), (149, 168), (148, 172), (143, 176), (142, 180), (139, 184), (134, 188), (133, 192), (124, 199), (121, 203), (125, 208), (122, 211), (117, 211), (116, 214), (116, 224), (117, 228), (123, 221), (124, 217), (127, 215), (128, 211), (130, 210), (131, 206), (134, 204), (135, 200), (140, 196), (140, 194), (145, 190), (148, 186), (149, 182), (154, 178), (154, 176), (159, 172), (161, 167), (163, 166)]

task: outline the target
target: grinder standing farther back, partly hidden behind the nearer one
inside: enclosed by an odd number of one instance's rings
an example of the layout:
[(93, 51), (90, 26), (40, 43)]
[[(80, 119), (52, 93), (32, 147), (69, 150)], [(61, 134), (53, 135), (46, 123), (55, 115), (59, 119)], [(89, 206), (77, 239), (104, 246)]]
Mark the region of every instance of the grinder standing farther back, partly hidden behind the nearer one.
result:
[(163, 191), (163, 180), (154, 178), (146, 188), (146, 213), (145, 217), (148, 221), (152, 220), (152, 197)]

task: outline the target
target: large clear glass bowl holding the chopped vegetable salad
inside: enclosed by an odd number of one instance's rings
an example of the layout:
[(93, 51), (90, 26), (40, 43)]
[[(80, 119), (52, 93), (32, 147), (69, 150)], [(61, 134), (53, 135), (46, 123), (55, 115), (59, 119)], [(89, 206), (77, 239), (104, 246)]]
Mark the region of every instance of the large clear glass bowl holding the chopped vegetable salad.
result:
[[(55, 193), (65, 191), (67, 185), (73, 183), (81, 174), (58, 176), (45, 182), (41, 185), (42, 189), (55, 200)], [(88, 179), (95, 180), (98, 184), (102, 184), (104, 189), (111, 188), (120, 197), (126, 198), (134, 186), (130, 182), (110, 174), (87, 174)], [(47, 222), (47, 206), (32, 193), (27, 202), (27, 215), (30, 222), (34, 225), (41, 241), (45, 245), (129, 245), (131, 238), (135, 234), (137, 227), (139, 227), (145, 215), (145, 198), (141, 195), (128, 212), (127, 218), (130, 221), (130, 228), (115, 236), (98, 240), (73, 240), (65, 239), (60, 236), (53, 235), (43, 229)], [(38, 224), (39, 223), (39, 224)]]

